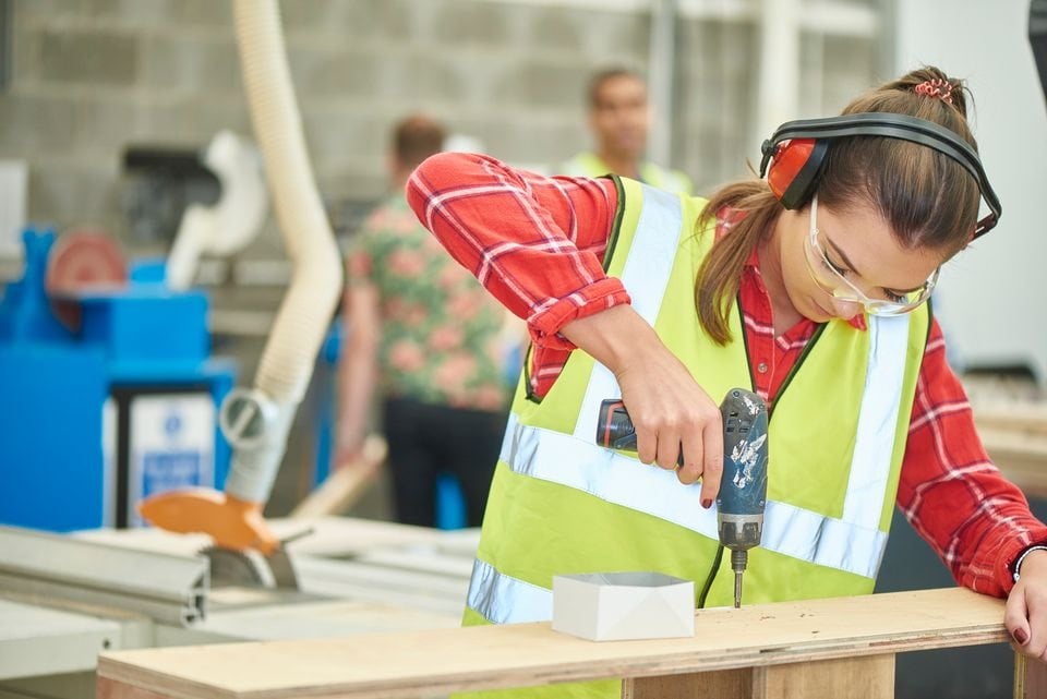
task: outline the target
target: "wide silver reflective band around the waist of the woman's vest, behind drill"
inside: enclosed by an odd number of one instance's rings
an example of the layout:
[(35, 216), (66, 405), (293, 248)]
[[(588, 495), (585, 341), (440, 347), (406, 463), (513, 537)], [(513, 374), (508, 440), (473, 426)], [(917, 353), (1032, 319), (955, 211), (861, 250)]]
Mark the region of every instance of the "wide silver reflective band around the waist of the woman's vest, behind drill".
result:
[[(700, 487), (682, 485), (676, 473), (552, 430), (520, 424), (509, 415), (502, 460), (514, 472), (583, 491), (717, 538), (714, 509), (699, 505)], [(882, 501), (881, 501), (882, 504)], [(822, 566), (876, 577), (887, 535), (785, 503), (768, 501), (765, 549)]]

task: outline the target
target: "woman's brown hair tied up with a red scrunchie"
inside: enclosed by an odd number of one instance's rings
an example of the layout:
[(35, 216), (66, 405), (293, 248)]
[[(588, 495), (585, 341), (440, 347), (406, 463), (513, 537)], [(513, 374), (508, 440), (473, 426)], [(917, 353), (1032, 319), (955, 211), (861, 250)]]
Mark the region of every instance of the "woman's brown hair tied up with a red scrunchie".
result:
[[(938, 82), (941, 81), (941, 82)], [(862, 95), (843, 110), (893, 112), (932, 121), (977, 144), (967, 126), (963, 81), (925, 67)], [(971, 238), (978, 215), (978, 184), (951, 157), (928, 146), (884, 136), (834, 138), (818, 180), (818, 203), (847, 210), (867, 203), (907, 250), (936, 250), (951, 256)], [(724, 207), (739, 216), (717, 241), (695, 285), (698, 318), (720, 345), (731, 340), (727, 315), (738, 293), (742, 268), (753, 249), (770, 232), (783, 210), (767, 182), (727, 184), (706, 204), (698, 221), (705, 229)], [(739, 220), (741, 219), (741, 220)]]

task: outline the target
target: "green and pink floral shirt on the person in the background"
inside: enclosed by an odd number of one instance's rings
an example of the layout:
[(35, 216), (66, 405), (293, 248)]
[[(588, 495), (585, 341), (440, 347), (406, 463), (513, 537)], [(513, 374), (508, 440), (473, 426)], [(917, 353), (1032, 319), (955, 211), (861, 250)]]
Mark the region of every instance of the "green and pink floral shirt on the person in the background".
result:
[(378, 291), (386, 396), (478, 410), (508, 406), (505, 312), (422, 228), (402, 193), (368, 217), (348, 268), (350, 285)]

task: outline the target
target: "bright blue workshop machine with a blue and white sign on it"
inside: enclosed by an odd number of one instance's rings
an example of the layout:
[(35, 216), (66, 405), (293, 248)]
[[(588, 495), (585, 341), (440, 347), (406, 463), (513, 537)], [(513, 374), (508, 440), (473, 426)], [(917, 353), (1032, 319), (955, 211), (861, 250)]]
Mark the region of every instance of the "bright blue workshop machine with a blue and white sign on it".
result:
[(236, 366), (208, 355), (207, 297), (132, 274), (72, 299), (74, 333), (45, 291), (53, 232), (23, 241), (24, 276), (0, 300), (0, 523), (133, 527), (145, 496), (220, 490), (230, 449), (217, 406)]

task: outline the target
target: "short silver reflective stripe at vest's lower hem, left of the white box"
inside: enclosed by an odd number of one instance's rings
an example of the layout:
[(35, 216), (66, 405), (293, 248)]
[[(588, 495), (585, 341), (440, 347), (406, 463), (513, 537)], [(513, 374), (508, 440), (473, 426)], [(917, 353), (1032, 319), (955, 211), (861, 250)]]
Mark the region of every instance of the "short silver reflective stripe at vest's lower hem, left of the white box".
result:
[(492, 624), (527, 624), (553, 618), (551, 590), (498, 573), (479, 558), (472, 564), (466, 603)]

